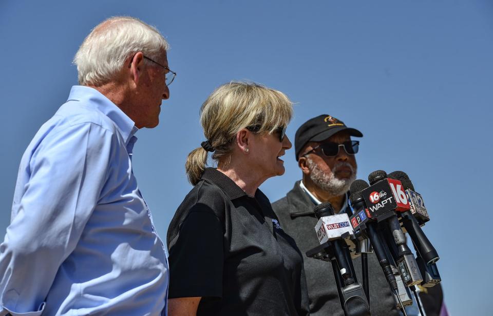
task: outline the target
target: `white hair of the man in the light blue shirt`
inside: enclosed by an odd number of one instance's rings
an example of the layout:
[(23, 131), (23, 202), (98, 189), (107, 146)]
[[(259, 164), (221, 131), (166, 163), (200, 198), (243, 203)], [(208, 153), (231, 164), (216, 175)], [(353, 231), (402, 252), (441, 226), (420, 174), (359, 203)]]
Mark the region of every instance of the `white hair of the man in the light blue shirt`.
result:
[(137, 52), (159, 58), (169, 48), (159, 31), (138, 18), (115, 16), (96, 26), (73, 58), (80, 85), (99, 86), (121, 71), (128, 57)]

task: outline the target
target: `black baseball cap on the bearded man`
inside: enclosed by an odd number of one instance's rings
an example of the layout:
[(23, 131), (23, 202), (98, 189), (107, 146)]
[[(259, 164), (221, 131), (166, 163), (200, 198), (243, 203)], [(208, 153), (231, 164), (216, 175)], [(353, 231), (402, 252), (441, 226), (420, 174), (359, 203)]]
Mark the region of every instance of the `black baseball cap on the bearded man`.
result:
[(347, 127), (344, 122), (337, 120), (337, 118), (330, 116), (329, 114), (322, 114), (310, 118), (310, 120), (303, 123), (298, 128), (296, 135), (294, 136), (296, 161), (298, 161), (299, 152), (308, 142), (324, 141), (340, 131), (347, 131), (351, 136), (363, 137), (362, 132)]

